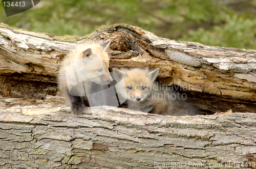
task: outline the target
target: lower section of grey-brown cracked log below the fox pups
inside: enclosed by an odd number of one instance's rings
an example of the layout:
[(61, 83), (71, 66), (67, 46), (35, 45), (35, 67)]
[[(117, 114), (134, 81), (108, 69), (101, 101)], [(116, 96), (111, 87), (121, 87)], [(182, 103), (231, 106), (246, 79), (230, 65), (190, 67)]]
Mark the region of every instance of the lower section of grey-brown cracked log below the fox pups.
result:
[(160, 166), (174, 162), (250, 168), (238, 164), (256, 162), (253, 113), (170, 117), (102, 106), (75, 116), (51, 99), (59, 98), (34, 100), (37, 106), (1, 99), (13, 104), (0, 108), (0, 168), (169, 168)]

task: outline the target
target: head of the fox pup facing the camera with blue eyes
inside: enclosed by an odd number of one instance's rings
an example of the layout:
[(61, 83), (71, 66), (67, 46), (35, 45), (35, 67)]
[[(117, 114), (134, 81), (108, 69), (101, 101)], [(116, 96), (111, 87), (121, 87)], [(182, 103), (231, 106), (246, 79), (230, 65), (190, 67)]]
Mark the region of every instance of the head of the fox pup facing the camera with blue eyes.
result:
[(119, 81), (124, 78), (125, 87), (116, 85), (117, 92), (123, 97), (126, 95), (127, 99), (140, 103), (147, 99), (151, 94), (154, 81), (159, 73), (159, 68), (150, 71), (148, 68), (134, 68), (134, 69), (113, 69), (114, 78)]

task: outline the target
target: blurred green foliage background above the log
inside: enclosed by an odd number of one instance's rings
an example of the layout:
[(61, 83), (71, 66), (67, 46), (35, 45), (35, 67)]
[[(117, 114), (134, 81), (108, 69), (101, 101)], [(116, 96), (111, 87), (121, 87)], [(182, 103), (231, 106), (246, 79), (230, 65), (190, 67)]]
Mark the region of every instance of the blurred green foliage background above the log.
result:
[(157, 36), (211, 46), (256, 49), (256, 0), (41, 0), (0, 22), (57, 36), (84, 36), (126, 23)]

